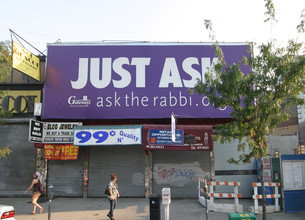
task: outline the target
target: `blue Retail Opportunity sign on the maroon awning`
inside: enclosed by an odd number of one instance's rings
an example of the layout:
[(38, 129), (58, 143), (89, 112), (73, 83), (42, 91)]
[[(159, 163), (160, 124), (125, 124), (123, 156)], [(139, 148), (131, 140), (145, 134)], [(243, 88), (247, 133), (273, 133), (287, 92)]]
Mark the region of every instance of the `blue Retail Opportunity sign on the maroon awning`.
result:
[(171, 130), (149, 130), (150, 145), (181, 145), (183, 146), (183, 130), (176, 130), (176, 141), (172, 141)]

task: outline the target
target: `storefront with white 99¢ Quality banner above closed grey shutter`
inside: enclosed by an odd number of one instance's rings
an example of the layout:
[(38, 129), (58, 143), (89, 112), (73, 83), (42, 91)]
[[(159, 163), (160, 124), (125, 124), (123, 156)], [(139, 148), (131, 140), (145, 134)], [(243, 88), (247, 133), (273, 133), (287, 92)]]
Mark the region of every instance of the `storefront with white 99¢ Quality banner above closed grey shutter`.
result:
[(89, 146), (89, 197), (105, 196), (102, 186), (111, 173), (118, 176), (122, 195), (145, 196), (142, 126), (81, 126), (74, 128), (73, 138), (74, 145)]

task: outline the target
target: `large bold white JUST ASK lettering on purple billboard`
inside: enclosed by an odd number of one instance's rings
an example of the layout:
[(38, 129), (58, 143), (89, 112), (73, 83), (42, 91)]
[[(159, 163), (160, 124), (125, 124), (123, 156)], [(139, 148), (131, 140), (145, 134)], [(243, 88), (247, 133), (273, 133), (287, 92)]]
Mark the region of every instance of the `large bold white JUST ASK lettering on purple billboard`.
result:
[[(88, 79), (97, 89), (104, 89), (111, 82), (114, 88), (121, 89), (128, 87), (132, 77), (135, 77), (136, 88), (145, 88), (146, 68), (150, 65), (150, 61), (149, 57), (134, 57), (131, 62), (127, 57), (118, 57), (115, 60), (106, 57), (101, 61), (100, 58), (90, 58), (89, 73), (89, 58), (79, 58), (78, 78), (76, 81), (71, 80), (70, 82), (73, 89), (83, 89), (87, 85)], [(217, 62), (217, 57), (213, 58), (212, 62), (209, 57), (202, 57), (201, 60), (196, 57), (187, 57), (178, 65), (175, 57), (167, 57), (164, 61), (159, 88), (169, 88), (170, 85), (174, 88), (193, 88), (197, 80), (205, 80), (207, 72), (210, 72), (214, 79), (216, 73), (211, 67)], [(130, 66), (135, 66), (135, 68), (128, 68)], [(178, 66), (180, 67), (178, 68)], [(179, 69), (183, 71), (179, 72)], [(120, 78), (113, 78), (112, 71)]]

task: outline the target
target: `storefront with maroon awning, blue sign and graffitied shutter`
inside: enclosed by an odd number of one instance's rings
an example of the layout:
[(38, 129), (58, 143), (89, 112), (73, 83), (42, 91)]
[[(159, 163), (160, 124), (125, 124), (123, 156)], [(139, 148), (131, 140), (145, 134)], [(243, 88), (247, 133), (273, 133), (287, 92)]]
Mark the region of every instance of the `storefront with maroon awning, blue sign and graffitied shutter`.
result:
[(143, 149), (147, 152), (147, 194), (171, 188), (173, 198), (195, 198), (197, 178), (211, 178), (213, 127), (178, 125), (172, 140), (170, 125), (144, 125)]

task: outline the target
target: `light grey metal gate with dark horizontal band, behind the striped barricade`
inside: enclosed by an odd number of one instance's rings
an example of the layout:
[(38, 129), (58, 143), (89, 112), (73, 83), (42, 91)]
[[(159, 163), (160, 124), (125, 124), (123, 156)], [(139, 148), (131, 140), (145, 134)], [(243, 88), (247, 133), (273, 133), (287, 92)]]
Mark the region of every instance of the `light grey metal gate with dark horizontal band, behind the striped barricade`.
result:
[[(238, 159), (239, 155), (244, 153), (237, 151), (238, 141), (231, 143), (214, 143), (214, 161), (215, 161), (215, 180), (227, 182), (240, 182), (238, 193), (242, 198), (252, 198), (252, 182), (257, 181), (257, 171), (255, 160), (248, 164), (232, 164), (228, 160), (230, 158)], [(248, 146), (245, 153), (249, 152)], [(229, 190), (229, 191), (228, 191)], [(215, 192), (233, 193), (231, 188), (226, 186), (216, 186)]]

